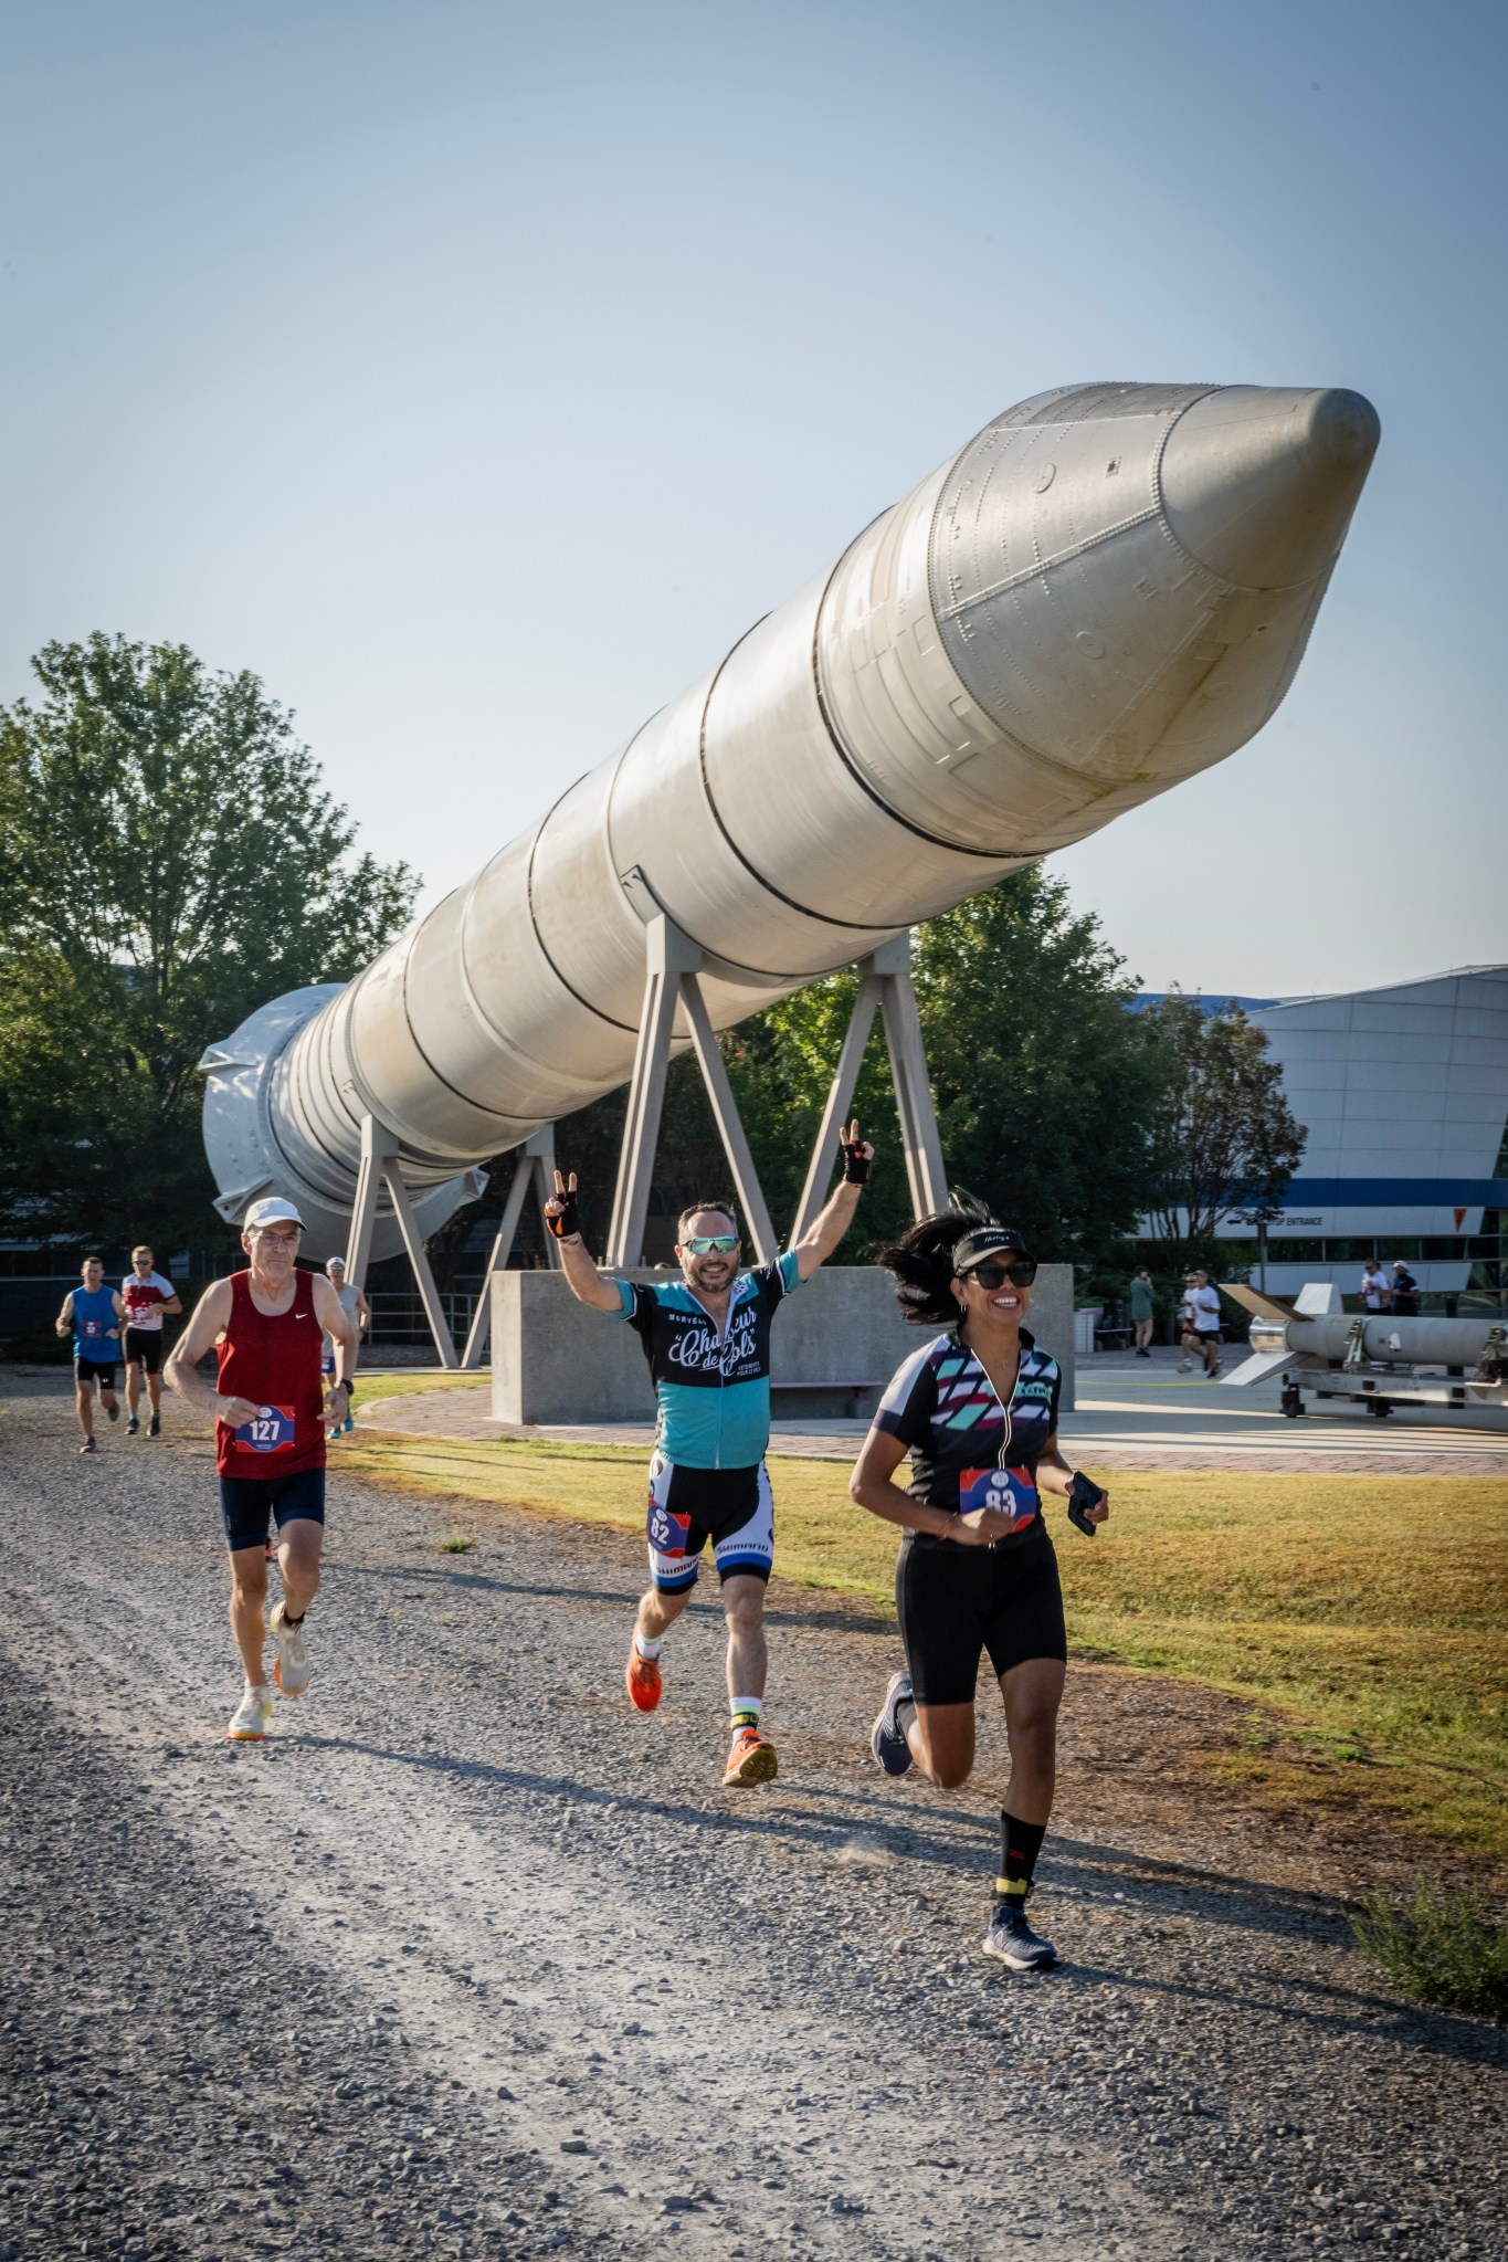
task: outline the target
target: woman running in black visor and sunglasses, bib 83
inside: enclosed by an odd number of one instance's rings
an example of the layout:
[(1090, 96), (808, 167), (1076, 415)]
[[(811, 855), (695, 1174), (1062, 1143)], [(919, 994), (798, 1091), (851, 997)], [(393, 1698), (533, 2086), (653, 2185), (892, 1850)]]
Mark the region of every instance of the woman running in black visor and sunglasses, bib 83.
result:
[[(907, 1319), (945, 1326), (895, 1373), (848, 1491), (904, 1529), (895, 1608), (907, 1665), (870, 1730), (889, 1776), (916, 1764), (956, 1789), (974, 1767), (974, 1683), (990, 1651), (1006, 1703), (1011, 1782), (999, 1814), (999, 1873), (983, 1952), (1011, 1970), (1054, 1963), (1026, 1923), (1026, 1896), (1054, 1798), (1058, 1706), (1067, 1667), (1058, 1559), (1042, 1493), (1069, 1495), (1058, 1450), (1058, 1362), (1022, 1326), (1035, 1258), (983, 1203), (954, 1192), (879, 1262)], [(911, 1484), (893, 1482), (911, 1454)], [(1085, 1502), (1092, 1495), (1092, 1504)], [(1081, 1482), (1081, 1516), (1110, 1513)]]

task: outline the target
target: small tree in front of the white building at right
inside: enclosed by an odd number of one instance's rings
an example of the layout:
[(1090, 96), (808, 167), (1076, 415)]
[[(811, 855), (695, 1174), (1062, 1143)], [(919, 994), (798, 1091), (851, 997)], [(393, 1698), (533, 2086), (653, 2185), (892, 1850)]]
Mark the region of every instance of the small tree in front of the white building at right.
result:
[(1262, 1221), (1282, 1210), (1307, 1133), (1293, 1120), (1266, 1031), (1241, 1007), (1205, 1013), (1196, 998), (1173, 991), (1142, 1020), (1167, 1059), (1146, 1215), (1178, 1267), (1210, 1264), (1221, 1219)]

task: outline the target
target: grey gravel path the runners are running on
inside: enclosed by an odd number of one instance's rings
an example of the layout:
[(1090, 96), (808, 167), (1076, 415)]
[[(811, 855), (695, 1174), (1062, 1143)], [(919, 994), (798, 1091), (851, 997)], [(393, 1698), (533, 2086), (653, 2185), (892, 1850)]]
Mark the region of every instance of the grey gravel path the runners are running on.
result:
[(312, 1690), (228, 1746), (206, 1441), (0, 1416), (7, 2262), (1501, 2255), (1503, 2036), (1379, 1988), (1271, 1825), (1128, 1846), (1081, 1762), (1067, 1961), (1011, 1979), (999, 1733), (979, 1794), (884, 1782), (891, 1631), (778, 1590), (782, 1776), (726, 1794), (712, 1611), (622, 1696), (629, 1540), (443, 1556), (452, 1511), (339, 1473)]

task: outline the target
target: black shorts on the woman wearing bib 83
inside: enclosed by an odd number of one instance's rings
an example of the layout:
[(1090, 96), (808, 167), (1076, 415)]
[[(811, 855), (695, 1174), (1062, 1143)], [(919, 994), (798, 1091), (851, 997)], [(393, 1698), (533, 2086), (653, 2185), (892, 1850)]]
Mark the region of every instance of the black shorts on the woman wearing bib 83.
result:
[(918, 1703), (972, 1703), (979, 1654), (997, 1674), (1026, 1658), (1067, 1660), (1058, 1556), (1042, 1531), (1020, 1547), (907, 1540), (895, 1611)]

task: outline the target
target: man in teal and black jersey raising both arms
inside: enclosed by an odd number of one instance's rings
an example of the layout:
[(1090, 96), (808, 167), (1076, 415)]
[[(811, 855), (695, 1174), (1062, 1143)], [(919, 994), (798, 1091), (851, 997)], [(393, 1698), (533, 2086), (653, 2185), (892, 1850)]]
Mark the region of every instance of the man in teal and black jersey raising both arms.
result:
[(843, 1179), (805, 1240), (775, 1264), (739, 1271), (739, 1228), (726, 1201), (681, 1212), (681, 1280), (619, 1280), (597, 1271), (577, 1226), (577, 1176), (556, 1172), (545, 1203), (572, 1294), (626, 1319), (644, 1344), (660, 1421), (649, 1464), (649, 1590), (629, 1651), (629, 1696), (640, 1712), (660, 1701), (660, 1644), (712, 1561), (728, 1620), (733, 1749), (723, 1782), (769, 1782), (775, 1746), (764, 1712), (764, 1583), (775, 1547), (769, 1445), (769, 1330), (780, 1303), (839, 1246), (859, 1206), (875, 1149), (852, 1122), (841, 1142)]

